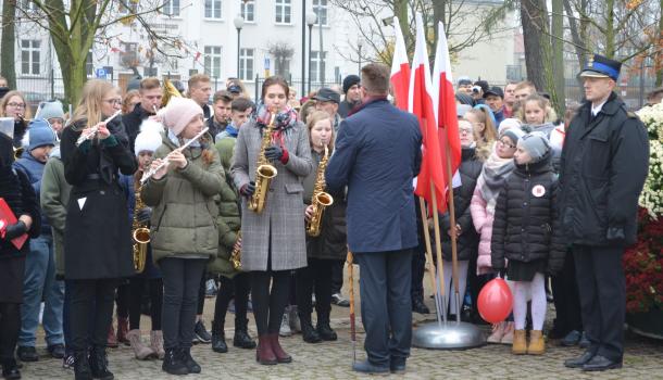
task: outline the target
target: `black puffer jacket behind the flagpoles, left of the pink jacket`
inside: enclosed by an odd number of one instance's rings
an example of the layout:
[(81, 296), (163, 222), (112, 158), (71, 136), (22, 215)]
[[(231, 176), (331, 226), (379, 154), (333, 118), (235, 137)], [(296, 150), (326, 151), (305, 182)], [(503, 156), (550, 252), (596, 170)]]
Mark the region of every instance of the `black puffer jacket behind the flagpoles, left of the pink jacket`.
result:
[[(459, 173), (461, 176), (461, 187), (453, 189), (453, 204), (455, 214), (455, 224), (461, 226), (461, 235), (456, 240), (458, 259), (466, 261), (476, 256), (476, 251), (479, 244), (479, 236), (474, 229), (472, 223), (472, 214), (470, 213), (470, 201), (476, 187), (476, 180), (481, 174), (484, 163), (476, 157), (474, 148), (463, 148), (461, 153), (461, 166)], [(442, 240), (442, 255), (445, 261), (451, 261), (451, 237), (447, 232), (451, 228), (451, 218), (449, 212), (441, 215), (440, 218), (440, 235)]]

